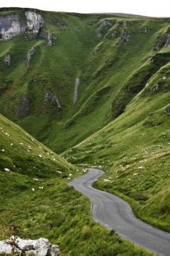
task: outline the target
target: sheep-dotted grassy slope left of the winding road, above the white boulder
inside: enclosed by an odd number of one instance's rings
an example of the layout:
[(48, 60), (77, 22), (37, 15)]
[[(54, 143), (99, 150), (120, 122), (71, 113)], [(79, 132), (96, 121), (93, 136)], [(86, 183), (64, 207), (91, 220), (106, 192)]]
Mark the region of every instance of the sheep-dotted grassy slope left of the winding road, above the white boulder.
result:
[(68, 187), (70, 173), (73, 166), (0, 116), (0, 239), (44, 236), (61, 255), (151, 255), (92, 221), (89, 200)]

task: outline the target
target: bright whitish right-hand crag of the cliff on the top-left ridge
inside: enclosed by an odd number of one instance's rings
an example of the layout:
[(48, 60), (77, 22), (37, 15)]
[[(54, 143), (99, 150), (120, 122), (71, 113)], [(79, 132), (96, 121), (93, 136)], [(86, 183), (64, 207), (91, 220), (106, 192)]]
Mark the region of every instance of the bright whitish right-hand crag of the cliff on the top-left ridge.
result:
[(27, 33), (39, 34), (44, 25), (42, 16), (32, 11), (25, 12), (24, 14), (27, 17)]

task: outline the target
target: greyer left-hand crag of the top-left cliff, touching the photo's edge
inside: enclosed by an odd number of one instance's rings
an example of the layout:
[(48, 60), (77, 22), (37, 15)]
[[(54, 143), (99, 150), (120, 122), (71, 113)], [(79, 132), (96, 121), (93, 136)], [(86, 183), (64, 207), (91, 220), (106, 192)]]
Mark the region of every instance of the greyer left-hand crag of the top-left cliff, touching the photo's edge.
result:
[(9, 40), (15, 35), (24, 33), (24, 22), (18, 15), (0, 17), (0, 40)]

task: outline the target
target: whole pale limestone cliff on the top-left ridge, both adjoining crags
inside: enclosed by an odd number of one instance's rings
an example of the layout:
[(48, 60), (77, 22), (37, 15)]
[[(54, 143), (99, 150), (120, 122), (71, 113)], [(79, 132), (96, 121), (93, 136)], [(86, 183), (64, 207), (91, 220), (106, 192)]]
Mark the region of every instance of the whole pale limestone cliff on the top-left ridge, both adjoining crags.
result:
[(0, 40), (9, 40), (16, 35), (38, 35), (44, 25), (42, 16), (34, 11), (24, 13), (26, 22), (17, 14), (0, 17)]

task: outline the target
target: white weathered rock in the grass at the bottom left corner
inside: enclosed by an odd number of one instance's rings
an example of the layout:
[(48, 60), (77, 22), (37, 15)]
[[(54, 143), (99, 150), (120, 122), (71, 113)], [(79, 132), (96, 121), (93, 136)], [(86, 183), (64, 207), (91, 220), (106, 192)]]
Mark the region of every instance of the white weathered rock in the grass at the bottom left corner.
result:
[(45, 238), (30, 240), (12, 236), (10, 239), (0, 241), (1, 255), (56, 256), (59, 253), (58, 245), (52, 245)]

